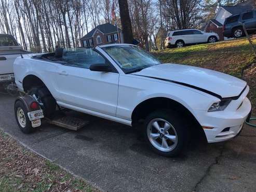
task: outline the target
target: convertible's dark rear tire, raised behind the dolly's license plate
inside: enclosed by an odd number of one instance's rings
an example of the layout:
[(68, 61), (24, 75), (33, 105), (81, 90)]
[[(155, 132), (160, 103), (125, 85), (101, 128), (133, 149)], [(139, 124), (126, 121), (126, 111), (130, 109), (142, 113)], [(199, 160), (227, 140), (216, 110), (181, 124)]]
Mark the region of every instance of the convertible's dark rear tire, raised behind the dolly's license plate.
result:
[(43, 103), (41, 108), (43, 109), (44, 116), (52, 119), (56, 111), (56, 100), (52, 97), (50, 91), (46, 87), (33, 87), (29, 91), (29, 95), (35, 94), (38, 98), (38, 102)]

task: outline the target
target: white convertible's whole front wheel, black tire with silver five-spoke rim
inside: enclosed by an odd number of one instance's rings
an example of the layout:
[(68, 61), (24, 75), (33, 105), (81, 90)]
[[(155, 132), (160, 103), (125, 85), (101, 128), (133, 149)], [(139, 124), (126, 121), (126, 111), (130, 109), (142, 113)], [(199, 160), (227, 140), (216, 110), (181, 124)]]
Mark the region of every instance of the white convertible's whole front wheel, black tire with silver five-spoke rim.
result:
[(177, 156), (187, 143), (184, 120), (172, 110), (155, 111), (147, 116), (144, 132), (147, 144), (162, 156)]

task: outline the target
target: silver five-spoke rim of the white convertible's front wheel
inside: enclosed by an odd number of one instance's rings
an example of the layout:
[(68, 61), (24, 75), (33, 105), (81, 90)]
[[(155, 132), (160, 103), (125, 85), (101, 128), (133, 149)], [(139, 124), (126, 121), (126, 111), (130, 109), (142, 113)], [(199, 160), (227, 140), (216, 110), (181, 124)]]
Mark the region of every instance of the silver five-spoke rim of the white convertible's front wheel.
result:
[(170, 152), (178, 144), (176, 130), (165, 119), (152, 119), (147, 125), (147, 137), (151, 144), (162, 152)]

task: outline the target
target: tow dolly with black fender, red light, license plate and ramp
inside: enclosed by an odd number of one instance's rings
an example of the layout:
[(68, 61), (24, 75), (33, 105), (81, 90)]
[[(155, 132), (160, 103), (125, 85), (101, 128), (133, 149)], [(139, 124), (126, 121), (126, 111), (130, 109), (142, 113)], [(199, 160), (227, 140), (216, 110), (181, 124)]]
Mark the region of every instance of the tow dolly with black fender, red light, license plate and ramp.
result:
[[(45, 120), (48, 124), (56, 125), (73, 131), (88, 125), (89, 121), (66, 115), (60, 111), (53, 119), (44, 116), (41, 105), (31, 96), (24, 95), (18, 97), (14, 105), (15, 117), (17, 124), (23, 133), (31, 133), (34, 128), (42, 125), (41, 120)], [(58, 112), (58, 111), (57, 111)]]

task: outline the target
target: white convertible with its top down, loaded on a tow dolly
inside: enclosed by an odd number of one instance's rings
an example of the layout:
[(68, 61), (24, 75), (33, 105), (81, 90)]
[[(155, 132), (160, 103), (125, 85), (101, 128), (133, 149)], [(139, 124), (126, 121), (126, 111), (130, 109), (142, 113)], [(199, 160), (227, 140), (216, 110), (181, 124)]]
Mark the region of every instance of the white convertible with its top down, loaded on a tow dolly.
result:
[[(251, 111), (247, 83), (223, 73), (161, 64), (128, 44), (94, 49), (58, 49), (18, 58), (16, 84), (33, 95), (44, 115), (56, 105), (132, 126), (144, 122), (147, 143), (164, 156), (180, 153), (189, 133), (204, 130), (207, 141), (234, 138)], [(33, 130), (22, 106), (20, 129)]]

